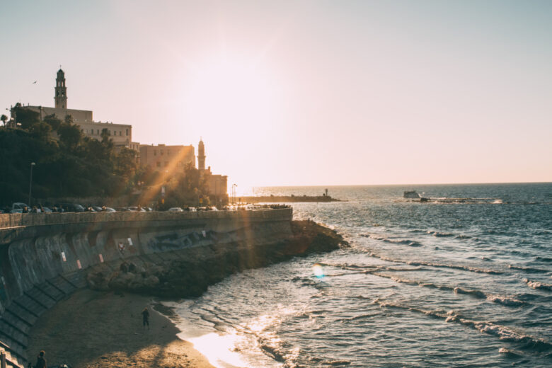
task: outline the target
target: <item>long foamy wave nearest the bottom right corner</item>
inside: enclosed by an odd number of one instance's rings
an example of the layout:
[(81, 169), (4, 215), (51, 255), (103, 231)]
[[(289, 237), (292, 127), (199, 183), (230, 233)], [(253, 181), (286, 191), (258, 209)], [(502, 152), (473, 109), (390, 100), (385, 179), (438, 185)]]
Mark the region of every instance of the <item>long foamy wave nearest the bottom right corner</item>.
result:
[(519, 343), (527, 350), (536, 350), (538, 352), (550, 351), (552, 350), (552, 343), (541, 339), (536, 338), (531, 335), (526, 335), (524, 333), (519, 333), (512, 328), (507, 326), (502, 326), (497, 323), (490, 321), (473, 321), (471, 319), (462, 316), (461, 314), (456, 314), (454, 311), (448, 311), (444, 313), (443, 311), (432, 311), (420, 309), (412, 306), (403, 306), (396, 303), (385, 303), (379, 300), (374, 300), (374, 304), (379, 304), (382, 308), (396, 308), (403, 309), (408, 311), (414, 311), (416, 313), (425, 314), (426, 316), (432, 316), (435, 318), (444, 319), (447, 323), (460, 323), (466, 327), (473, 328), (478, 330), (481, 333), (486, 333), (488, 335), (497, 336), (502, 341), (508, 341), (512, 343)]

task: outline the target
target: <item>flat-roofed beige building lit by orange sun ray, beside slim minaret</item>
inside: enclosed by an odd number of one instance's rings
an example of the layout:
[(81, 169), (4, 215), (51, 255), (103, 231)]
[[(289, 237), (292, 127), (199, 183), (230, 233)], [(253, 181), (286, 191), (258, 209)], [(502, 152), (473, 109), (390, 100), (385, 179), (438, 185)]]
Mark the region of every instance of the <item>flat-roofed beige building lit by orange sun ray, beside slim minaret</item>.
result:
[(184, 170), (186, 163), (195, 167), (195, 149), (190, 146), (167, 146), (158, 144), (151, 146), (140, 144), (140, 165), (151, 166), (154, 170)]

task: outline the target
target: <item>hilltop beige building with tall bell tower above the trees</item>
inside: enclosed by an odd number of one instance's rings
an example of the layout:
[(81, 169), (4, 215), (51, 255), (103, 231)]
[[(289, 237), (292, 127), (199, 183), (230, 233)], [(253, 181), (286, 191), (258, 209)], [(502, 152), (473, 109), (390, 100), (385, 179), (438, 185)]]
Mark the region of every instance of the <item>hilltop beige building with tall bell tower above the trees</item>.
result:
[[(132, 125), (113, 124), (113, 122), (95, 122), (93, 120), (91, 110), (74, 110), (67, 108), (67, 86), (65, 86), (65, 74), (62, 69), (57, 71), (56, 86), (54, 88), (54, 107), (47, 108), (44, 106), (23, 106), (29, 110), (36, 111), (40, 114), (40, 120), (47, 115), (55, 115), (59, 120), (64, 121), (65, 116), (71, 115), (73, 122), (81, 127), (81, 131), (86, 137), (101, 139), (102, 130), (108, 130), (108, 133), (113, 139), (113, 144), (117, 148), (127, 147), (133, 148), (139, 146), (135, 143), (132, 145)], [(12, 117), (13, 109), (12, 109)], [(137, 150), (137, 149), (136, 149)]]

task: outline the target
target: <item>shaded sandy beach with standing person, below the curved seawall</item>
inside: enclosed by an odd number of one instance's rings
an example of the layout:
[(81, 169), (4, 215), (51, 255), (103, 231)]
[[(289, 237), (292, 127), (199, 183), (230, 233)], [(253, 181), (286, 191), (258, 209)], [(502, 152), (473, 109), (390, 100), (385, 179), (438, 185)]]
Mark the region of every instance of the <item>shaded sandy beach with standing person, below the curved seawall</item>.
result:
[[(43, 314), (30, 333), (28, 357), (45, 350), (48, 365), (74, 368), (214, 368), (173, 323), (134, 294), (80, 290)], [(141, 312), (150, 311), (150, 330)]]

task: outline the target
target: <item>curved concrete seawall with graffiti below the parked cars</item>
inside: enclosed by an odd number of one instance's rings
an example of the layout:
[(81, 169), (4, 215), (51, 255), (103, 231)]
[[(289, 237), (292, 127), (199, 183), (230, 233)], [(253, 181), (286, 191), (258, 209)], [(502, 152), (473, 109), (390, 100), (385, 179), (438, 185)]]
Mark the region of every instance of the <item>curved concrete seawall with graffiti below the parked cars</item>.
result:
[(166, 260), (217, 244), (271, 243), (292, 235), (291, 220), (291, 208), (0, 214), (0, 351), (6, 351), (8, 367), (23, 366), (35, 321), (85, 287), (88, 270), (96, 266), (114, 268), (128, 258)]

